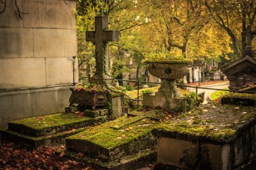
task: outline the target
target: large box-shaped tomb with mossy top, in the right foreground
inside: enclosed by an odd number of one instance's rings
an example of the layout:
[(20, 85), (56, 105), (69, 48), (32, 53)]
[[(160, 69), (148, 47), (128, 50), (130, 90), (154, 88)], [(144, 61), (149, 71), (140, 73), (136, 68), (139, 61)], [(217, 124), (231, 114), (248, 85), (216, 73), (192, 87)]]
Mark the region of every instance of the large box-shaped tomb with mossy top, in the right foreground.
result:
[(159, 165), (236, 169), (255, 159), (256, 108), (213, 103), (158, 124)]

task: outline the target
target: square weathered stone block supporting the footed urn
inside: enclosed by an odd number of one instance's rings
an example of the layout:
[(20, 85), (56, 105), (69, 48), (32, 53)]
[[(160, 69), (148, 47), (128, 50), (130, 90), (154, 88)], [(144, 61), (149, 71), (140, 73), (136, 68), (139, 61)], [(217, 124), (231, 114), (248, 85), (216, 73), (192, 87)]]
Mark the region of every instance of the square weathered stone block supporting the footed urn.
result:
[(159, 90), (155, 94), (144, 95), (143, 105), (146, 107), (161, 107), (167, 110), (186, 112), (186, 99), (173, 97), (173, 92)]

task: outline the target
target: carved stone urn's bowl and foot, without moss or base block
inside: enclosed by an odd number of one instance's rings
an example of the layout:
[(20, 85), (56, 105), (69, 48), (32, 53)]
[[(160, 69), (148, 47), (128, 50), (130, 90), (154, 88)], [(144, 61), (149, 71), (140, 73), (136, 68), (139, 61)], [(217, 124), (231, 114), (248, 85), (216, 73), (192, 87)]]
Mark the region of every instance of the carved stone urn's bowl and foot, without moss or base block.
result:
[(171, 96), (179, 96), (175, 80), (183, 78), (188, 73), (187, 63), (148, 63), (148, 71), (152, 76), (161, 78), (161, 92), (170, 92)]

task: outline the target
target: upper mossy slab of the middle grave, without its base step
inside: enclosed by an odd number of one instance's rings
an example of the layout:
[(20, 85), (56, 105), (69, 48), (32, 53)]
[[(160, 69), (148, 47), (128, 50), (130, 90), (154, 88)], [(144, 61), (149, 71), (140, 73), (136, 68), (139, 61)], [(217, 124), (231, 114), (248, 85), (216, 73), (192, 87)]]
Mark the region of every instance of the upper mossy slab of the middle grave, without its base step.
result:
[(156, 138), (151, 130), (157, 124), (146, 115), (123, 116), (66, 138), (66, 148), (85, 152), (93, 158), (113, 161), (155, 146)]

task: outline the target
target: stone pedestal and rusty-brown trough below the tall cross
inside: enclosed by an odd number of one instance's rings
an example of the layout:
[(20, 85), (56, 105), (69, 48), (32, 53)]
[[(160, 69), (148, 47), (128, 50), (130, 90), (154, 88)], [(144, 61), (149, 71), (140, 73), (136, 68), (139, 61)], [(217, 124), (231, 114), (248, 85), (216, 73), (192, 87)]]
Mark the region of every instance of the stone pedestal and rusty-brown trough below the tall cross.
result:
[(72, 90), (70, 107), (66, 107), (66, 112), (76, 111), (84, 113), (87, 117), (109, 116), (111, 119), (121, 117), (125, 111), (124, 94), (112, 90), (108, 92)]

